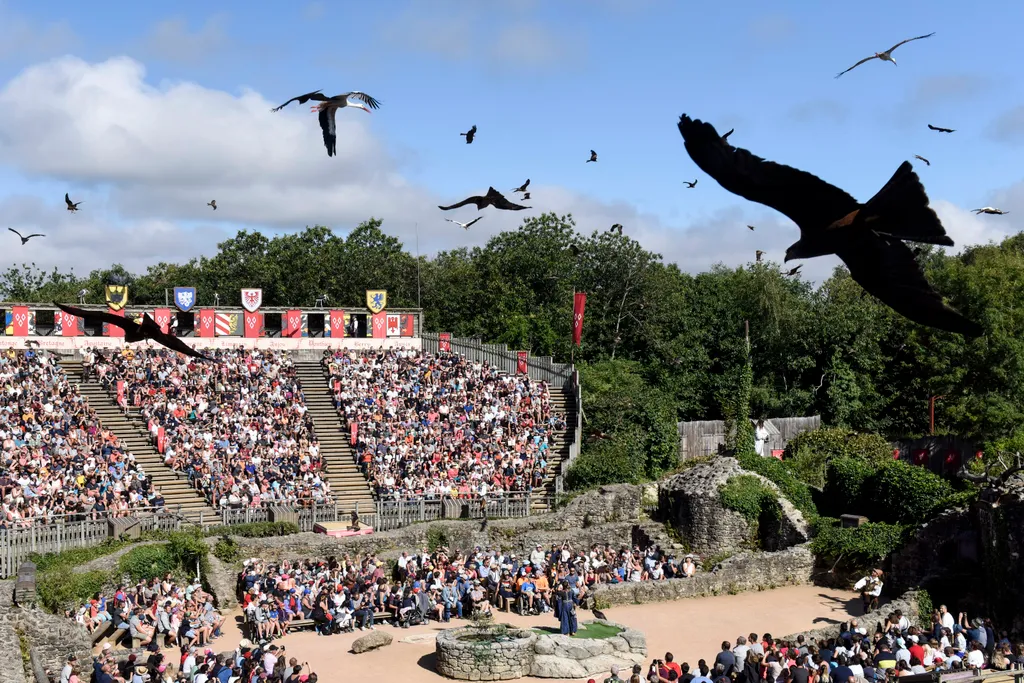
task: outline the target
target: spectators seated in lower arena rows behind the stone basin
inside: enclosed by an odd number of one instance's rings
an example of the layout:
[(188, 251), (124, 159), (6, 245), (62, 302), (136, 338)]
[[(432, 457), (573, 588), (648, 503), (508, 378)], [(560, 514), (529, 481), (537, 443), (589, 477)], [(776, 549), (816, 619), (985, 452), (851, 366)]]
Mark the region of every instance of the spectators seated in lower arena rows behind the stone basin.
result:
[(380, 620), (408, 627), (493, 610), (553, 612), (557, 617), (561, 605), (586, 601), (598, 584), (660, 581), (695, 571), (692, 557), (678, 562), (656, 546), (538, 545), (521, 558), (479, 547), (467, 553), (424, 548), (403, 552), (393, 563), (374, 554), (280, 564), (247, 560), (238, 578), (238, 597), (249, 636), (271, 640), (292, 622), (306, 620), (330, 635), (373, 629)]

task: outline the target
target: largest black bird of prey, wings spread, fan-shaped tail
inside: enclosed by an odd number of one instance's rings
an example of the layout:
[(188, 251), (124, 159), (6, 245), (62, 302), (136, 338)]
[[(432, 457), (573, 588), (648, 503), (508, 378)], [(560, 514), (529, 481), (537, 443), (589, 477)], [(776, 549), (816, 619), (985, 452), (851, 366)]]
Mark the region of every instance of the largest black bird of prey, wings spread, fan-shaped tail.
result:
[(800, 227), (800, 240), (786, 250), (785, 261), (836, 254), (868, 294), (908, 319), (967, 337), (983, 333), (943, 303), (903, 243), (953, 245), (909, 162), (874, 197), (858, 204), (810, 173), (723, 143), (710, 123), (683, 115), (679, 132), (693, 162), (720, 185), (775, 209)]

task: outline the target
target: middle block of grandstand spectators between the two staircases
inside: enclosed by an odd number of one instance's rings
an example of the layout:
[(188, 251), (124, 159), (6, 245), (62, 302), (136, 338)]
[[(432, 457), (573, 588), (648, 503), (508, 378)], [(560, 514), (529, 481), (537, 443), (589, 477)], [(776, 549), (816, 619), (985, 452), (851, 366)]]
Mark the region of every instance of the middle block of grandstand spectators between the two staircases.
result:
[(85, 365), (138, 411), (164, 461), (188, 476), (214, 505), (309, 506), (331, 501), (319, 443), (288, 353), (216, 349), (219, 362), (200, 365), (163, 348), (91, 349)]

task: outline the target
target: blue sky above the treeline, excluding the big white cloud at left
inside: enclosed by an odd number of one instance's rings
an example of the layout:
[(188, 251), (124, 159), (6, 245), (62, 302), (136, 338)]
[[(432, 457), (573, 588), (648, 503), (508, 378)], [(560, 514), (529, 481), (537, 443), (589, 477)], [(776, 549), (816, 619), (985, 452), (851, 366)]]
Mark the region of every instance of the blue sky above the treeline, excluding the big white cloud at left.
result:
[[(406, 183), (416, 188), (415, 201), (422, 199), (422, 206), (396, 200), (402, 211), (386, 200), (379, 210), (370, 209), (384, 215), (385, 229), (393, 225), (410, 247), (408, 223), (422, 224), (426, 251), (456, 244), (443, 217), (475, 215), (442, 215), (431, 210), (434, 200), (455, 202), (488, 184), (508, 190), (529, 177), (537, 211), (575, 209), (587, 217), (581, 226), (587, 231), (613, 220), (628, 228), (632, 222), (641, 242), (689, 270), (717, 260), (743, 262), (761, 245), (780, 257), (796, 229), (770, 210), (729, 195), (693, 166), (675, 126), (683, 112), (723, 132), (735, 127), (734, 144), (814, 172), (860, 200), (900, 162), (922, 155), (932, 166), (914, 166), (933, 204), (948, 203), (940, 214), (954, 238), (985, 241), (1024, 226), (1016, 212), (983, 219), (965, 212), (988, 204), (1024, 212), (1021, 3), (382, 0), (220, 2), (211, 10), (212, 4), (0, 4), (0, 87), (27, 68), (70, 54), (87, 65), (130, 57), (144, 66), (145, 83), (158, 90), (190, 82), (233, 97), (254, 90), (273, 104), (315, 88), (329, 94), (367, 91), (383, 102), (378, 112), (343, 113), (358, 119), (365, 127), (359, 134), (372, 136), (379, 145), (375, 154), (387, 157), (367, 174)], [(834, 78), (861, 57), (933, 31), (934, 37), (894, 53), (898, 67), (873, 60)], [(78, 101), (78, 121), (87, 121), (81, 108), (92, 102)], [(290, 109), (295, 111), (281, 116), (311, 129), (311, 144), (295, 154), (325, 173), (346, 164), (345, 173), (355, 178), (362, 160), (325, 166), (315, 119), (306, 105)], [(215, 115), (207, 108), (185, 110), (176, 118), (185, 126), (203, 127), (203, 117)], [(141, 114), (128, 108), (123, 116), (128, 126)], [(276, 231), (302, 227), (299, 221), (307, 218), (344, 230), (357, 222), (351, 212), (366, 210), (339, 210), (324, 220), (315, 211), (308, 217), (289, 213), (261, 223), (244, 211), (232, 213), (231, 202), (217, 216), (147, 202), (147, 215), (146, 207), (126, 198), (147, 197), (160, 184), (156, 179), (142, 187), (104, 168), (102, 160), (89, 168), (83, 166), (89, 160), (74, 168), (29, 161), (24, 148), (12, 152), (11, 138), (24, 134), (11, 121), (0, 115), (0, 207), (17, 200), (19, 224), (33, 222), (23, 206), (27, 198), (51, 202), (53, 194), (59, 200), (66, 188), (78, 187), (109, 224), (134, 230), (135, 223), (148, 224), (146, 229), (159, 223), (161, 234), (175, 244), (180, 240), (174, 229), (185, 230), (189, 246), (171, 252), (182, 258), (208, 253), (211, 236), (222, 238), (239, 226)], [(928, 123), (957, 132), (936, 133)], [(459, 132), (473, 124), (479, 132), (466, 145)], [(84, 127), (81, 133), (88, 134)], [(264, 140), (251, 143), (258, 150)], [(161, 154), (159, 139), (145, 144)], [(585, 163), (592, 147), (598, 164)], [(187, 159), (175, 163), (187, 170)], [(202, 165), (199, 157), (196, 164)], [(697, 187), (684, 189), (682, 180), (693, 178), (699, 178)], [(175, 182), (182, 184), (170, 184)], [(232, 182), (244, 189), (244, 177)], [(366, 180), (351, 182), (322, 190), (353, 197), (366, 191)], [(218, 191), (230, 190), (225, 185)], [(522, 218), (487, 216), (478, 225), (492, 231)], [(61, 226), (67, 219), (60, 216)], [(745, 222), (763, 231), (732, 232)], [(479, 243), (487, 233), (472, 239)], [(157, 260), (146, 244), (153, 243), (129, 245), (125, 260), (136, 266)], [(111, 256), (82, 248), (75, 258), (96, 265), (95, 259)], [(44, 262), (67, 259), (40, 254)], [(830, 262), (820, 266), (817, 272), (827, 271)]]

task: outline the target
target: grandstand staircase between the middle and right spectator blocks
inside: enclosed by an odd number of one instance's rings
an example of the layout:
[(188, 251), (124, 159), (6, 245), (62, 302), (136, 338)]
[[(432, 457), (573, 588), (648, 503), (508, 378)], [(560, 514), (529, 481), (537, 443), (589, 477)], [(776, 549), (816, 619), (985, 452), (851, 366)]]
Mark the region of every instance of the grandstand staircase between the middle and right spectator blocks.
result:
[(367, 478), (355, 464), (355, 454), (347, 426), (334, 407), (334, 397), (327, 376), (318, 360), (297, 360), (296, 374), (302, 382), (308, 415), (321, 444), (325, 478), (339, 506), (339, 514), (347, 515), (358, 504), (360, 514), (373, 512), (374, 497)]

